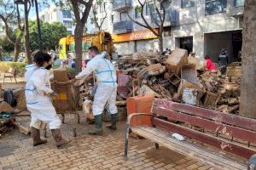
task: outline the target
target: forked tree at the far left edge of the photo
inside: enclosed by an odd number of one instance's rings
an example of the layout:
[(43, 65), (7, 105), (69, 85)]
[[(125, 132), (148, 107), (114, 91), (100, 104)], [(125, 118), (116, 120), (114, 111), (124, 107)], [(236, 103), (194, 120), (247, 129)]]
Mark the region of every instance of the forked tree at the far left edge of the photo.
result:
[[(5, 34), (9, 40), (9, 42), (13, 43), (15, 46), (15, 59), (17, 61), (18, 56), (20, 54), (20, 42), (24, 35), (24, 26), (21, 26), (20, 20), (20, 11), (17, 7), (17, 13), (15, 13), (15, 5), (14, 3), (10, 3), (10, 1), (1, 0), (0, 5), (2, 6), (0, 10), (0, 19), (3, 20), (5, 26)], [(12, 38), (13, 28), (11, 26), (17, 25), (17, 29), (15, 30), (16, 37)]]

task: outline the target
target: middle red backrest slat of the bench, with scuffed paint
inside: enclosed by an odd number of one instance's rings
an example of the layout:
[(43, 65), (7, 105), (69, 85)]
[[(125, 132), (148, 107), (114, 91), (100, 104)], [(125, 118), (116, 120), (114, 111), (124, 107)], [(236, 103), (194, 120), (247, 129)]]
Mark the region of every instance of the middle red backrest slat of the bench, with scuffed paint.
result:
[(189, 125), (204, 127), (207, 130), (223, 133), (230, 137), (235, 137), (256, 144), (256, 132), (249, 131), (240, 127), (232, 127), (221, 122), (212, 122), (197, 116), (191, 116), (177, 111), (167, 110), (165, 108), (155, 107), (152, 109), (154, 114), (158, 116), (166, 116), (173, 121), (186, 122)]

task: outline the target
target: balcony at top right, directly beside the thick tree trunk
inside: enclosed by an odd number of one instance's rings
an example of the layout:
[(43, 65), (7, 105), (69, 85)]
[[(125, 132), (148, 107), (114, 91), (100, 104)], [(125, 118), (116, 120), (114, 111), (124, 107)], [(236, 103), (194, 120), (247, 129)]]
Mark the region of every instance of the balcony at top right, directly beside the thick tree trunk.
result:
[(229, 16), (241, 16), (244, 11), (244, 2), (242, 0), (232, 0), (228, 4), (227, 15)]

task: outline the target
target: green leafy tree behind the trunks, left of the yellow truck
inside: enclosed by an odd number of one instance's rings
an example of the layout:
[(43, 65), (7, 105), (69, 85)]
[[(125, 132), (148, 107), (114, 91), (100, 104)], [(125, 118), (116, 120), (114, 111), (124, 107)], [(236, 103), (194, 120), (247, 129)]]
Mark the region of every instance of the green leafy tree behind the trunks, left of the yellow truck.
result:
[[(67, 37), (67, 29), (60, 22), (40, 22), (42, 46), (46, 50), (55, 49), (61, 37)], [(29, 21), (29, 33), (32, 51), (39, 48), (37, 21)]]

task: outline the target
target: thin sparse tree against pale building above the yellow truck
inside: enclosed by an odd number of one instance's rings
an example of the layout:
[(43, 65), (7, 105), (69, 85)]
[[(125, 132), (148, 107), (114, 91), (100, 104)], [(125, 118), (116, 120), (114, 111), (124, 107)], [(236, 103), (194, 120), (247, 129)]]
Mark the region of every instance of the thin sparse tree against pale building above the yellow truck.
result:
[[(105, 13), (102, 20), (99, 20), (98, 17), (97, 17), (97, 14), (98, 14), (97, 9), (98, 8), (103, 8), (104, 13)], [(97, 29), (99, 31), (102, 30), (102, 25), (104, 23), (104, 20), (106, 20), (107, 16), (108, 16), (108, 14), (107, 14), (107, 11), (106, 11), (106, 3), (104, 3), (103, 0), (96, 0), (96, 3), (92, 6), (91, 21), (92, 21), (92, 23), (95, 24), (95, 26), (97, 27)]]

